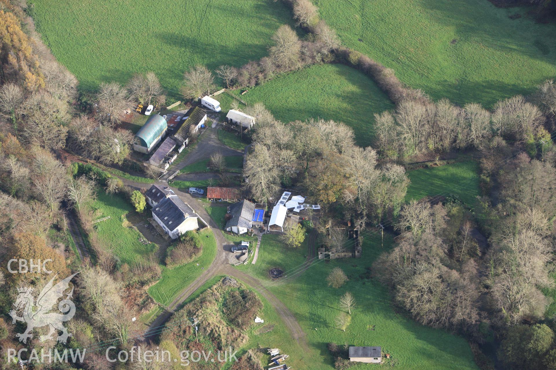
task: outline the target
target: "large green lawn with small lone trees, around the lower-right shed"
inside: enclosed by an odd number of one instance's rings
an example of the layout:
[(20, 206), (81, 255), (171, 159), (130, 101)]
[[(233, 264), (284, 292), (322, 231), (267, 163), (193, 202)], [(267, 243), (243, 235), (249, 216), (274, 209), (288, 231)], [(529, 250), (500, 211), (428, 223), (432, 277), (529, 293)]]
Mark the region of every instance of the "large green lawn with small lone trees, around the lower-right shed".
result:
[[(391, 242), (391, 237), (386, 235), (384, 250)], [(390, 353), (392, 360), (397, 362), (396, 368), (404, 370), (478, 369), (464, 338), (421, 326), (403, 313), (398, 313), (385, 287), (361, 277), (367, 272), (366, 267), (371, 266), (382, 251), (380, 237), (368, 237), (364, 239), (361, 259), (317, 262), (304, 273), (269, 286), (294, 313), (307, 333), (311, 349), (320, 353), (321, 359), (316, 368), (333, 369), (334, 360), (326, 344), (335, 342), (340, 345), (381, 346), (383, 352)], [(305, 254), (304, 246), (289, 249), (280, 243), (277, 236), (265, 235), (256, 265), (240, 268), (262, 281), (269, 281), (267, 270), (270, 267), (281, 267), (287, 271), (301, 265), (305, 261)], [(326, 285), (326, 276), (336, 266), (342, 268), (350, 279), (337, 290)], [(342, 332), (335, 328), (334, 319), (340, 312), (339, 298), (347, 291), (354, 294), (356, 306), (351, 324)], [(373, 326), (374, 330), (371, 330)], [(302, 368), (311, 366), (315, 365), (307, 363)], [(350, 369), (370, 367), (368, 364), (358, 364)]]

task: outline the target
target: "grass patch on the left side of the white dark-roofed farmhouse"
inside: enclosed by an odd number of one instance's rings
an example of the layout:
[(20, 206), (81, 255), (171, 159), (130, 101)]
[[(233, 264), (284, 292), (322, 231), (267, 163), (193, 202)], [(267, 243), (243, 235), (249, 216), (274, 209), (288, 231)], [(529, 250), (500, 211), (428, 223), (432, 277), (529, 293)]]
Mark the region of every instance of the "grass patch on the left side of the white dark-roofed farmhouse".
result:
[[(148, 207), (148, 206), (147, 206)], [(142, 244), (139, 241), (141, 233), (131, 227), (126, 215), (135, 212), (131, 202), (121, 195), (107, 195), (103, 190), (97, 191), (97, 199), (91, 204), (95, 210), (95, 220), (110, 216), (105, 221), (97, 222), (95, 229), (98, 238), (107, 250), (111, 250), (122, 263), (133, 263), (148, 256), (157, 250), (157, 245), (149, 243)], [(143, 222), (147, 221), (146, 210)]]

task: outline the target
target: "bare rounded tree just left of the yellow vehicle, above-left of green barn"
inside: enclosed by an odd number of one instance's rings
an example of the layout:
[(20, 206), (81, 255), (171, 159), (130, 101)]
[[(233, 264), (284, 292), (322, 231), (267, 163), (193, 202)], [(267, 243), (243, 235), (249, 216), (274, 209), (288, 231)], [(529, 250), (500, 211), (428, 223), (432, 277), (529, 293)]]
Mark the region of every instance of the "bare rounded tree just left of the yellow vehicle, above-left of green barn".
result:
[(121, 116), (132, 105), (127, 91), (116, 82), (101, 83), (97, 93), (97, 117), (106, 125), (114, 126), (121, 122)]

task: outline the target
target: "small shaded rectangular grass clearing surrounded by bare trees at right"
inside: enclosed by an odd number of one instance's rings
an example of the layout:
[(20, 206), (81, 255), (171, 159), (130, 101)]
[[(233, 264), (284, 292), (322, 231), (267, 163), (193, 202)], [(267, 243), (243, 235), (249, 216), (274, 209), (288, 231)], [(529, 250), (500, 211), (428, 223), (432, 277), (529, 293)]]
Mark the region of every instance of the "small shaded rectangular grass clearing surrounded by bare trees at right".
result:
[(477, 171), (477, 164), (474, 161), (408, 171), (411, 184), (405, 200), (419, 200), (437, 194), (455, 195), (462, 202), (473, 206), (476, 196), (480, 195)]

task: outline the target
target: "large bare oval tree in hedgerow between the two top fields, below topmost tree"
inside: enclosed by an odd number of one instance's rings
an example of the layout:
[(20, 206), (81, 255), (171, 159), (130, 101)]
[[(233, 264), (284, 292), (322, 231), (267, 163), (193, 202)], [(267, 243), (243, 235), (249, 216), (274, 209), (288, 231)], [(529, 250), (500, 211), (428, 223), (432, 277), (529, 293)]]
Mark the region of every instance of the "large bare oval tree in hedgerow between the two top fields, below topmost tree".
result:
[(270, 57), (277, 65), (292, 69), (299, 65), (300, 41), (297, 34), (290, 26), (283, 24), (272, 36), (274, 46), (270, 47)]

